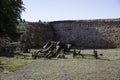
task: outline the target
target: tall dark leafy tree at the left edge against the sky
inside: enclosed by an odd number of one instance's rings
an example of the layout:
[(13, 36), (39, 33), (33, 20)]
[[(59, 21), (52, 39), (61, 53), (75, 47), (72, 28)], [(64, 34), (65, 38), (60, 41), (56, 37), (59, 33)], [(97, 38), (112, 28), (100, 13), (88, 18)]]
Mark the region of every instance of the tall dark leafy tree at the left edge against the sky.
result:
[(0, 0), (0, 36), (11, 36), (24, 11), (22, 0)]

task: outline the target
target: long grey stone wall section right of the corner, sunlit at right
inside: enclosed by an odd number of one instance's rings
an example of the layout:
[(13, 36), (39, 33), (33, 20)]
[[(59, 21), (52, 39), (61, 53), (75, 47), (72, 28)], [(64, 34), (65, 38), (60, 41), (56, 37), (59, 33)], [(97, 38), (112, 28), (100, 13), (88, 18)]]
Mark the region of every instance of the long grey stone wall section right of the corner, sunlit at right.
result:
[(53, 40), (88, 48), (120, 47), (120, 19), (54, 21)]

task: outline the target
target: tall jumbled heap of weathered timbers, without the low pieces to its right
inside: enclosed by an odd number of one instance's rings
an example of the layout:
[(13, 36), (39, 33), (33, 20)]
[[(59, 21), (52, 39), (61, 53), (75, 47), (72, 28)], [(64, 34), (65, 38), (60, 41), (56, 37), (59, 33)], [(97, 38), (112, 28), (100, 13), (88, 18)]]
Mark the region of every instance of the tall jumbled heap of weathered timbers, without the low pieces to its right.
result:
[(48, 41), (44, 46), (42, 50), (35, 51), (32, 53), (33, 59), (36, 59), (38, 57), (44, 57), (44, 58), (65, 58), (64, 53), (68, 52), (71, 48), (71, 44), (64, 44), (60, 41)]

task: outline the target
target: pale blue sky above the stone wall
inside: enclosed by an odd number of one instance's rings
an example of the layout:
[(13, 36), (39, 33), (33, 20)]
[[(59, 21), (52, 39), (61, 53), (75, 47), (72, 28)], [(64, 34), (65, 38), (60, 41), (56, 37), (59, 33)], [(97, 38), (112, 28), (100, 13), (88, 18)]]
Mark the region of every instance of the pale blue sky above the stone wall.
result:
[(120, 0), (23, 0), (26, 21), (120, 18)]

